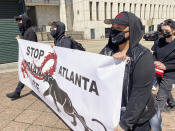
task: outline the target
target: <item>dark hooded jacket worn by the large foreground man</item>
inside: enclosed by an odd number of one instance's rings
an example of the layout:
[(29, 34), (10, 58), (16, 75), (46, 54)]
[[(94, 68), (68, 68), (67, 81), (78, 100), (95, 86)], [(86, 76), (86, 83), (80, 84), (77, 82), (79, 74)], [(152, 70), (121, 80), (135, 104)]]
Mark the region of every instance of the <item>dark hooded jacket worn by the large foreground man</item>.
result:
[[(126, 131), (134, 126), (150, 120), (155, 114), (152, 84), (154, 79), (154, 64), (151, 52), (139, 44), (143, 36), (143, 26), (135, 15), (128, 13), (130, 27), (130, 47), (127, 56), (130, 61), (126, 64), (120, 126)], [(118, 52), (110, 38), (101, 54), (113, 55)]]

